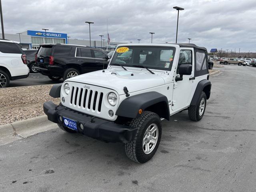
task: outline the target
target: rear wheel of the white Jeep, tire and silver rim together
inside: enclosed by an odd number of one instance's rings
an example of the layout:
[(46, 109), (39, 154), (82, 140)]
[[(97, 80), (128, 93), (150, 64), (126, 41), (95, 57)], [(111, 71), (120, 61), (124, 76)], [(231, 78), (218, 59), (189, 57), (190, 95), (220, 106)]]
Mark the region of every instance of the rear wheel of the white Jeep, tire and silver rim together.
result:
[(200, 121), (205, 112), (206, 108), (206, 94), (204, 92), (201, 93), (198, 98), (198, 102), (196, 105), (190, 105), (188, 107), (188, 116), (192, 121)]

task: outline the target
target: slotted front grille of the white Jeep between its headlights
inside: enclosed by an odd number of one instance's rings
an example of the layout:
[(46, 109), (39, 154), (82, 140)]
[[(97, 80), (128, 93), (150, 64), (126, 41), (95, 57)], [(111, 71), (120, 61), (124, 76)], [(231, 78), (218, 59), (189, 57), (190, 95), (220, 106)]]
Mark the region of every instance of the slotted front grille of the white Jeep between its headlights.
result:
[(91, 89), (72, 86), (70, 104), (91, 111), (101, 111), (103, 93)]

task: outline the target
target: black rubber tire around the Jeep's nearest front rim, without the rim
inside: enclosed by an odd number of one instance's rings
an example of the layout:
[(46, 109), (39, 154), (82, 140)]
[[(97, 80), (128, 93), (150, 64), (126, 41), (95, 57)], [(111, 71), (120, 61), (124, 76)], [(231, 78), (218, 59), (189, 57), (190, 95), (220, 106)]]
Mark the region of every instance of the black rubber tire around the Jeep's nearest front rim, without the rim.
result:
[[(142, 148), (143, 137), (148, 126), (152, 123), (158, 126), (158, 140), (154, 150), (149, 154), (145, 154)], [(162, 125), (160, 117), (153, 112), (144, 111), (139, 118), (135, 118), (130, 122), (130, 126), (137, 128), (137, 132), (134, 139), (125, 144), (126, 155), (134, 162), (145, 163), (154, 156), (161, 140)]]

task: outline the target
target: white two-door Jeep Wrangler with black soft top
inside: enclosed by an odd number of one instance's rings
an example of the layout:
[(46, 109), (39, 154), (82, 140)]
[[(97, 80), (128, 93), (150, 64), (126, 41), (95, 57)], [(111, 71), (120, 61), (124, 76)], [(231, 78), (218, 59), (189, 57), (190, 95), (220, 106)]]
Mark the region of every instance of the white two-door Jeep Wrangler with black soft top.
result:
[[(124, 54), (125, 53), (125, 54)], [(48, 120), (70, 133), (124, 142), (128, 158), (145, 163), (160, 143), (161, 120), (188, 109), (199, 121), (210, 97), (207, 50), (194, 44), (122, 44), (108, 68), (56, 84), (44, 103)]]

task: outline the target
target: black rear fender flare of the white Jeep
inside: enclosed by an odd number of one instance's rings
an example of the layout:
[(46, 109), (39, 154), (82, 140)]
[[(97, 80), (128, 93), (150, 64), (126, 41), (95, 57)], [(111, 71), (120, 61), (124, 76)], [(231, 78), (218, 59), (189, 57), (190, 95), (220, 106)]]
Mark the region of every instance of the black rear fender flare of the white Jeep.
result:
[(200, 94), (202, 93), (202, 91), (205, 91), (206, 94), (206, 99), (210, 98), (210, 94), (211, 94), (211, 87), (212, 84), (209, 80), (202, 80), (200, 82), (198, 82), (197, 86), (196, 86), (196, 91), (194, 92), (194, 96), (191, 100), (190, 105), (196, 105), (198, 102), (198, 98), (200, 96)]

